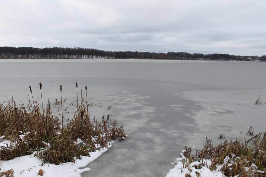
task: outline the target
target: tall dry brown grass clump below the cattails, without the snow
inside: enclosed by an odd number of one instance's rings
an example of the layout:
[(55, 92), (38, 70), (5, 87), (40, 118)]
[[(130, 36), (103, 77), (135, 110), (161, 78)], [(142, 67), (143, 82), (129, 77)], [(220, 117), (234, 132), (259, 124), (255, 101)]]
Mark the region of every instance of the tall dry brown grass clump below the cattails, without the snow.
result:
[[(62, 86), (60, 91), (62, 93)], [(35, 152), (35, 156), (43, 162), (74, 162), (81, 155), (90, 156), (89, 152), (99, 148), (95, 144), (105, 147), (112, 139), (123, 140), (126, 137), (123, 126), (116, 127), (116, 121), (92, 121), (85, 103), (87, 101), (81, 101), (73, 118), (67, 120), (64, 127), (52, 114), (49, 102), (46, 109), (37, 102), (36, 105), (29, 102), (28, 106), (17, 105), (13, 100), (2, 103), (0, 135), (4, 135), (3, 139), (9, 142), (7, 146), (0, 147), (0, 160), (11, 160)]]

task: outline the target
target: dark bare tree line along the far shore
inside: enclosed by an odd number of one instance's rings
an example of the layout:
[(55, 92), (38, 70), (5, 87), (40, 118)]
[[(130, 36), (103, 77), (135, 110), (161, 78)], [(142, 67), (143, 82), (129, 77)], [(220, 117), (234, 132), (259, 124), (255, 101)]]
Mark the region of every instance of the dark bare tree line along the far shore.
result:
[(187, 52), (132, 52), (132, 51), (103, 51), (93, 48), (34, 48), (34, 47), (0, 47), (0, 58), (119, 58), (119, 59), (190, 59), (190, 60), (237, 60), (237, 61), (266, 61), (266, 55), (239, 56), (229, 54), (200, 54)]

